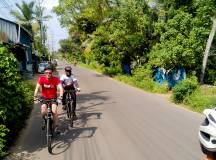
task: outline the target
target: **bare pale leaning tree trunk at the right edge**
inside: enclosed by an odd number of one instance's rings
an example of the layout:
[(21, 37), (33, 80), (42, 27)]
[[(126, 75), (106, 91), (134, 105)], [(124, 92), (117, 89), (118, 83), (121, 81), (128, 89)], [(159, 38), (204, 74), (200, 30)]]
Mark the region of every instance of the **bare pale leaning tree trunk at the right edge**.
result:
[(204, 57), (203, 57), (202, 71), (201, 71), (201, 75), (200, 75), (200, 83), (201, 84), (203, 84), (203, 81), (204, 81), (204, 75), (205, 75), (206, 64), (208, 61), (208, 55), (209, 55), (211, 44), (212, 44), (212, 41), (213, 41), (213, 38), (215, 35), (215, 31), (216, 31), (216, 18), (214, 18), (212, 20), (213, 20), (212, 30), (209, 34), (208, 42), (206, 44), (206, 49), (205, 49)]

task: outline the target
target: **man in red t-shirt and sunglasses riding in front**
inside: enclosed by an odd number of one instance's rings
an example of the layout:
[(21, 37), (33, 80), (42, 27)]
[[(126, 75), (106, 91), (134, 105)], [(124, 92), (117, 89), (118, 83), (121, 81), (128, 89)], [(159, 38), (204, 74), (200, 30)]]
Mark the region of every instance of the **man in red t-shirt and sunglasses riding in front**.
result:
[[(58, 77), (53, 76), (52, 67), (48, 66), (44, 70), (45, 76), (40, 76), (38, 79), (38, 83), (35, 88), (34, 97), (36, 98), (38, 95), (38, 91), (40, 89), (41, 96), (43, 99), (57, 99), (57, 88), (60, 90), (60, 98), (63, 96), (63, 87)], [(46, 104), (41, 105), (41, 114), (42, 117), (47, 113)], [(58, 112), (57, 112), (57, 102), (52, 103), (52, 113), (53, 113), (53, 121), (54, 125), (57, 126), (58, 123)]]

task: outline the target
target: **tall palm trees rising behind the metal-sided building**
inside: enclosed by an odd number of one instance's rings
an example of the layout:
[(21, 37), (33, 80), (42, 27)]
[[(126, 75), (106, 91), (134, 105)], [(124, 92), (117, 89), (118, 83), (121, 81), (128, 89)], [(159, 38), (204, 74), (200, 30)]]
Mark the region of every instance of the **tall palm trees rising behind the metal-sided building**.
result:
[(40, 57), (48, 57), (48, 48), (45, 45), (47, 26), (43, 22), (50, 19), (51, 16), (45, 15), (45, 8), (34, 1), (29, 3), (22, 1), (21, 4), (16, 3), (16, 6), (17, 9), (12, 10), (11, 15), (32, 35), (33, 50), (37, 51)]

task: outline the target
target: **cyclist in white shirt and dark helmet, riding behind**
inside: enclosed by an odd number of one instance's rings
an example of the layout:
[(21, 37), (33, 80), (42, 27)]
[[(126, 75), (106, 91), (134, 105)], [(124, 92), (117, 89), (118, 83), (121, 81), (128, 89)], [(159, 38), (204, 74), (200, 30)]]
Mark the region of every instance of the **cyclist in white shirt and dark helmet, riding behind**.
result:
[[(79, 88), (79, 84), (77, 82), (77, 79), (74, 77), (74, 75), (72, 74), (72, 67), (71, 66), (67, 66), (65, 67), (65, 74), (62, 75), (60, 77), (60, 81), (62, 83), (62, 86), (64, 88), (64, 90), (73, 90), (74, 92), (72, 92), (72, 98), (73, 98), (73, 106), (74, 106), (74, 111), (73, 112), (73, 116), (74, 116), (74, 119), (77, 119), (77, 116), (76, 116), (76, 91), (80, 91), (80, 88)], [(66, 92), (63, 93), (63, 99), (62, 99), (62, 109), (65, 110), (66, 107), (65, 107), (65, 104), (66, 104)]]

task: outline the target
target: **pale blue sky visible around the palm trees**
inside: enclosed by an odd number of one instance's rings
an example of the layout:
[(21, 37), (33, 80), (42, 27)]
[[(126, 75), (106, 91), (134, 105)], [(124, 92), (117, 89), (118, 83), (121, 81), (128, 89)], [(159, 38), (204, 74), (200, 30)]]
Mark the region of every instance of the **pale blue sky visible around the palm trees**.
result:
[[(29, 2), (31, 0), (24, 1)], [(16, 9), (15, 3), (21, 3), (21, 0), (0, 0), (0, 17), (15, 21), (15, 19), (10, 15), (10, 10)], [(67, 30), (60, 26), (57, 16), (52, 13), (52, 8), (58, 5), (58, 0), (43, 0), (42, 5), (46, 8), (46, 14), (52, 16), (49, 21), (45, 22), (48, 26), (47, 45), (51, 51), (57, 50), (59, 48), (59, 40), (68, 37)]]

